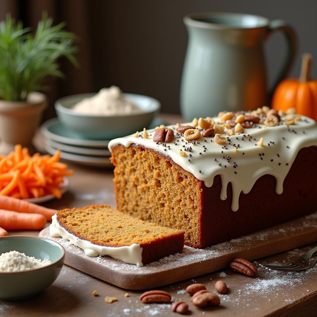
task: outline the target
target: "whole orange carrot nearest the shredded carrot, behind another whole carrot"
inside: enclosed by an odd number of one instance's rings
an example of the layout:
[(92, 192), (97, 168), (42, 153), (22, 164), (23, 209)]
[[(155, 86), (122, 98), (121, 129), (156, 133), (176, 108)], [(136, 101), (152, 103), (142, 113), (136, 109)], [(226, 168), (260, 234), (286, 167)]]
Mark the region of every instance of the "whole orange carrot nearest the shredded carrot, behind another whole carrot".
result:
[(52, 216), (57, 212), (57, 210), (55, 209), (49, 209), (18, 198), (1, 195), (0, 208), (5, 210), (14, 210), (18, 212), (42, 214), (46, 217), (47, 221), (52, 221)]

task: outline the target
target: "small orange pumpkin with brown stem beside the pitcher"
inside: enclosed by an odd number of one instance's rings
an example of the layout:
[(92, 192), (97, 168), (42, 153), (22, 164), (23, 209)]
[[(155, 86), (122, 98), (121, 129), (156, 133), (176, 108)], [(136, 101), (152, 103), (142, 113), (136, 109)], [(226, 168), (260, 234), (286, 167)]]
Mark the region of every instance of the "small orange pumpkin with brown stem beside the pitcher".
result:
[(317, 80), (310, 80), (309, 77), (311, 61), (310, 54), (302, 55), (300, 77), (279, 83), (273, 95), (272, 108), (283, 111), (295, 108), (296, 113), (317, 121)]

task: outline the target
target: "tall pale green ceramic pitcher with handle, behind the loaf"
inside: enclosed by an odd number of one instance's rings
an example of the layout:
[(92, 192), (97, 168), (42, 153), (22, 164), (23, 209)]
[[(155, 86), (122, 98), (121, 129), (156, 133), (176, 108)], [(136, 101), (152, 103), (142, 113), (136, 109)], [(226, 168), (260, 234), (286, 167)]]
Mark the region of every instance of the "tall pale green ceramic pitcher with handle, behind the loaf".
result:
[(186, 120), (267, 105), (263, 43), (277, 30), (286, 37), (287, 55), (277, 84), (294, 60), (294, 29), (282, 20), (237, 13), (194, 13), (184, 23), (189, 39), (180, 104)]

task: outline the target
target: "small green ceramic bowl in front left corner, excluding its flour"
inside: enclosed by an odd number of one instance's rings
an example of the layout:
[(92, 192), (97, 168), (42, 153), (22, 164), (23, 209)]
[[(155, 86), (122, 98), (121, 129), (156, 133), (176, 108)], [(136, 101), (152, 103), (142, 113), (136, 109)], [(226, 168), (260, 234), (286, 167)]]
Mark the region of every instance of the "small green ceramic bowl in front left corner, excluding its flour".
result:
[(52, 264), (34, 270), (0, 272), (0, 299), (15, 301), (32, 297), (51, 285), (61, 272), (65, 249), (55, 241), (33, 236), (5, 236), (0, 238), (0, 255), (18, 251)]

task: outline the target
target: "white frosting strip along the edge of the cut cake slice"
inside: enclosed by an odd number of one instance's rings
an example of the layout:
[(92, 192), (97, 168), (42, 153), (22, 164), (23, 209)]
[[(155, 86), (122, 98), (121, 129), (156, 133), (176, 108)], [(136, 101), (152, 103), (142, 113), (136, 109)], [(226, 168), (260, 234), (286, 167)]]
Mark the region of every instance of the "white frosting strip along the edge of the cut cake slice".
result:
[(58, 223), (56, 214), (52, 217), (52, 223), (49, 225), (49, 234), (52, 237), (62, 237), (64, 240), (69, 240), (70, 243), (83, 249), (87, 256), (111, 256), (129, 264), (135, 264), (139, 267), (143, 266), (143, 248), (138, 243), (123, 247), (106, 247), (82, 240), (63, 228)]

